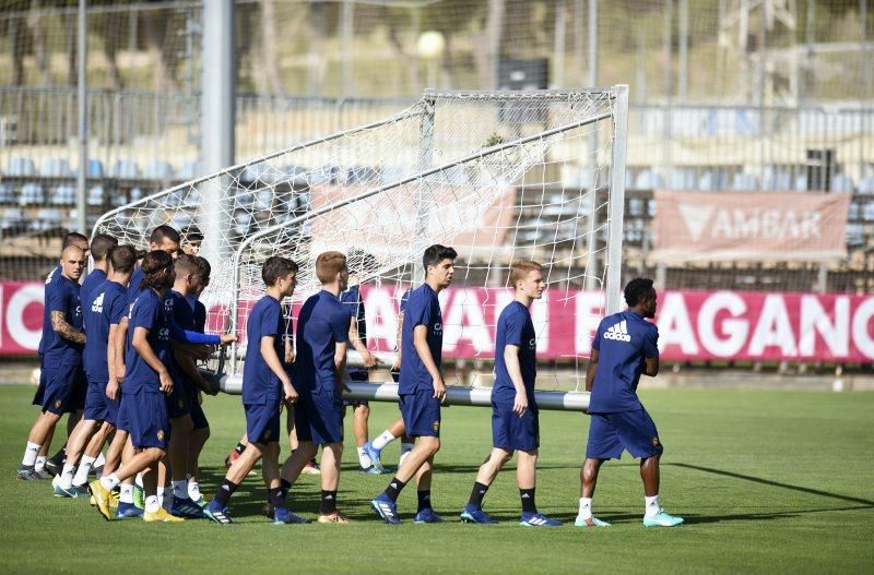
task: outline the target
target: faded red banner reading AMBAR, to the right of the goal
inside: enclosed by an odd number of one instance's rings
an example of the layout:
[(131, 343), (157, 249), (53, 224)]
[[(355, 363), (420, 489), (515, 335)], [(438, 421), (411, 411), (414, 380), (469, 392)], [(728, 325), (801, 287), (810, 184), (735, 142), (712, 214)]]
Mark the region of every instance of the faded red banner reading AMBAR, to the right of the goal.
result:
[(847, 256), (850, 194), (656, 191), (653, 262)]

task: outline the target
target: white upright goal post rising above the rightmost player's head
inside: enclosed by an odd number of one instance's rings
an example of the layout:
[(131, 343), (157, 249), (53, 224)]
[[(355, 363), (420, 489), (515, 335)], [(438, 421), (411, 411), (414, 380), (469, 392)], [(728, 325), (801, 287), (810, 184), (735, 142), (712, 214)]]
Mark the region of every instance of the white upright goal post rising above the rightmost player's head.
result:
[(615, 87), (616, 100), (613, 116), (613, 157), (611, 158), (610, 228), (607, 229), (606, 254), (606, 309), (616, 313), (622, 309), (622, 241), (625, 216), (625, 154), (628, 140), (628, 86)]

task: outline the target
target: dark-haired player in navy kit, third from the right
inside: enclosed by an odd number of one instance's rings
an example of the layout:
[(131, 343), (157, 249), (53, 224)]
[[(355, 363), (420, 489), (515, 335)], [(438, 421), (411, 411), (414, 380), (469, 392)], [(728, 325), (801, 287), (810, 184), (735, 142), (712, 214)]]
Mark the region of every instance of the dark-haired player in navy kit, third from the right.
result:
[(398, 524), (398, 495), (406, 483), (417, 478), (418, 507), (415, 523), (440, 523), (444, 519), (430, 504), (434, 455), (440, 448), (440, 404), (446, 398), (446, 384), (440, 373), (444, 324), (437, 294), (452, 283), (458, 253), (445, 245), (425, 250), (422, 264), (425, 283), (413, 290), (403, 316), (403, 348), (400, 395), (401, 415), (406, 434), (416, 438), (410, 452), (386, 491), (370, 502), (386, 523)]

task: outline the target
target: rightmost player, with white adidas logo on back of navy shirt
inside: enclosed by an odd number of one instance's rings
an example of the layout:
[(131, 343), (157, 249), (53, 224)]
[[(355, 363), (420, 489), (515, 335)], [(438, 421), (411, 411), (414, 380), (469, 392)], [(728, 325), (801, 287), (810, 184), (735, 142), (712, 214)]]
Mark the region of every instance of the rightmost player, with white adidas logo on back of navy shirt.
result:
[(628, 309), (604, 318), (592, 340), (586, 371), (589, 398), (589, 443), (580, 470), (578, 527), (609, 527), (592, 515), (598, 471), (607, 459), (627, 450), (640, 458), (647, 527), (673, 527), (683, 523), (662, 510), (659, 502), (659, 458), (662, 443), (656, 423), (637, 398), (640, 375), (659, 373), (659, 330), (647, 319), (656, 316), (657, 296), (651, 279), (636, 278), (625, 286)]

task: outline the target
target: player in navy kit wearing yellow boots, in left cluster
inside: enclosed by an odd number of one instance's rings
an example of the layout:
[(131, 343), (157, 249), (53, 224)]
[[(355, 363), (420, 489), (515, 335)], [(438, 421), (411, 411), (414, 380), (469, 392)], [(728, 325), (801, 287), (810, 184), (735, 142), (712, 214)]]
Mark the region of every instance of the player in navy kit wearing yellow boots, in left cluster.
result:
[(162, 296), (174, 281), (173, 257), (163, 251), (153, 251), (142, 262), (145, 276), (142, 294), (131, 307), (128, 316), (128, 345), (125, 354), (123, 411), (129, 420), (129, 440), (140, 452), (125, 460), (115, 472), (104, 475), (88, 486), (96, 508), (107, 520), (114, 518), (109, 510), (109, 494), (122, 480), (141, 471), (145, 491), (145, 522), (181, 522), (158, 503), (157, 463), (167, 454), (169, 422), (165, 395), (173, 392), (174, 382), (167, 370), (170, 350), (170, 319)]

